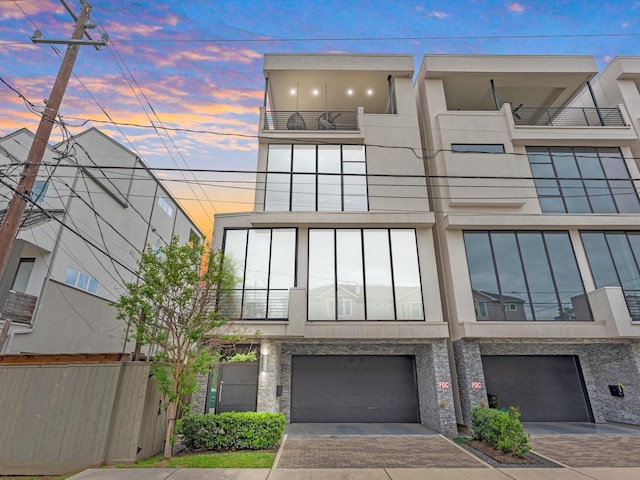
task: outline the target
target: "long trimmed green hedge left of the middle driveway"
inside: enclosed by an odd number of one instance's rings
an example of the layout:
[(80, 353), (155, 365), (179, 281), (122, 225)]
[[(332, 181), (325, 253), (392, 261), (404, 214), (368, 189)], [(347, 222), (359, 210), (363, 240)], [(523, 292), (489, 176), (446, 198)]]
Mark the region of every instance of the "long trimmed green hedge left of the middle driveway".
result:
[(180, 430), (193, 451), (266, 450), (280, 442), (284, 423), (281, 413), (207, 413), (183, 417)]

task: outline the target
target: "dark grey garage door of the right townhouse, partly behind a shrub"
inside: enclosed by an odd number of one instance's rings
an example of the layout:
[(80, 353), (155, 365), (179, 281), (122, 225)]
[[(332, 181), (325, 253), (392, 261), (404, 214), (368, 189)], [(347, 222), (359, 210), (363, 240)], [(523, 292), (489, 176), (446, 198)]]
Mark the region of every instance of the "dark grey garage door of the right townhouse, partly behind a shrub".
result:
[(487, 393), (517, 406), (523, 422), (593, 421), (578, 358), (570, 355), (483, 356)]

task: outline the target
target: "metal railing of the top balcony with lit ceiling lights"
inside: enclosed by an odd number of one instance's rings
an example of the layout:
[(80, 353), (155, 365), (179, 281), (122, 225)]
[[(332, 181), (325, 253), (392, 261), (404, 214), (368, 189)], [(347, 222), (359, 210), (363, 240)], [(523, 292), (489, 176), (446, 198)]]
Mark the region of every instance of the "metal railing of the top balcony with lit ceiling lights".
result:
[(283, 112), (265, 111), (264, 130), (358, 131), (358, 112)]

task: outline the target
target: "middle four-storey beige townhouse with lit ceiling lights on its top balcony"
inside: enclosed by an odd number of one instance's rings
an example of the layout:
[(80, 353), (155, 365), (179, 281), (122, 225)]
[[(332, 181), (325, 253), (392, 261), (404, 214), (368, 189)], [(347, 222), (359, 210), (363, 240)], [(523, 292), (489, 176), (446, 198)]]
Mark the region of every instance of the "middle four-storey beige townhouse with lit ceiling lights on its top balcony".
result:
[(264, 74), (264, 188), (253, 212), (216, 215), (213, 240), (242, 279), (226, 308), (260, 332), (260, 362), (222, 367), (215, 408), (252, 390), (250, 408), (290, 422), (455, 434), (413, 58), (269, 54)]

